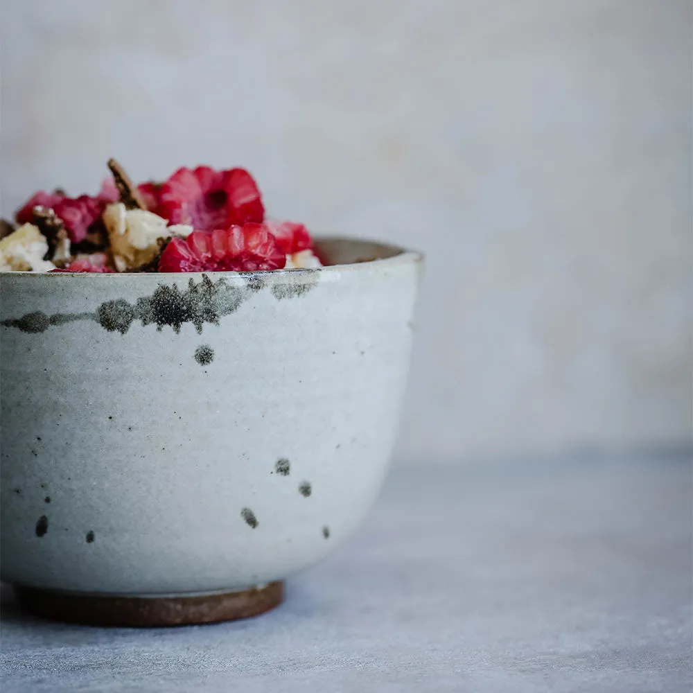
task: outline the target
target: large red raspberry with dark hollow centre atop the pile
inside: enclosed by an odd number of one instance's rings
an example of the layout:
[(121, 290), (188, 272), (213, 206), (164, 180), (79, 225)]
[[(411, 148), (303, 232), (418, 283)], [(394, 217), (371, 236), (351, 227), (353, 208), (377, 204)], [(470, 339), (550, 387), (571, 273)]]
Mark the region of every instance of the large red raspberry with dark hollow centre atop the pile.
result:
[(243, 168), (179, 168), (159, 189), (159, 216), (199, 231), (262, 222), (265, 209), (252, 176)]

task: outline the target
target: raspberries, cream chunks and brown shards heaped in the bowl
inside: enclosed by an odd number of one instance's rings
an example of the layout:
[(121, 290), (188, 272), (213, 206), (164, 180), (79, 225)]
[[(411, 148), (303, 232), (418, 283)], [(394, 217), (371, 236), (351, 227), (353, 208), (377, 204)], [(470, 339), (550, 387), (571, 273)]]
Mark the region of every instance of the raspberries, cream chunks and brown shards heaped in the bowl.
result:
[(320, 267), (305, 225), (265, 218), (243, 168), (182, 167), (139, 185), (114, 159), (95, 196), (34, 193), (3, 223), (0, 271), (252, 272)]

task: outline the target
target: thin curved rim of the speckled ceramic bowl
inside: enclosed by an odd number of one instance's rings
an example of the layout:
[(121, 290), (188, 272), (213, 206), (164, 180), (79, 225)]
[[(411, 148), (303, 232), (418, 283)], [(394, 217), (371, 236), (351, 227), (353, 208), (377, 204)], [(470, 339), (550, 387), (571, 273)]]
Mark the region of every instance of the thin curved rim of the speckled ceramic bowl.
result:
[[(287, 276), (301, 276), (313, 274), (313, 272), (320, 273), (333, 273), (333, 272), (344, 272), (344, 270), (349, 270), (351, 272), (367, 272), (372, 268), (383, 269), (392, 265), (407, 265), (407, 264), (417, 264), (423, 262), (424, 254), (419, 250), (414, 250), (411, 248), (404, 247), (402, 245), (396, 245), (394, 243), (388, 243), (387, 241), (376, 240), (373, 238), (358, 238), (355, 236), (314, 236), (315, 244), (320, 245), (320, 243), (363, 243), (364, 245), (376, 245), (379, 246), (381, 252), (392, 252), (392, 255), (387, 257), (374, 258), (372, 260), (366, 260), (361, 262), (353, 263), (343, 263), (337, 265), (324, 265), (324, 267), (282, 267), (279, 270), (248, 270), (246, 272), (32, 272), (32, 271), (21, 271), (21, 270), (9, 270), (0, 271), (0, 277), (81, 277), (89, 278), (87, 281), (107, 281), (108, 279), (114, 279), (116, 277), (166, 277), (167, 279), (187, 279), (196, 278), (199, 279), (203, 275), (213, 276), (213, 277), (245, 277), (247, 275), (269, 275), (272, 277), (287, 277)], [(55, 281), (51, 279), (50, 281)]]

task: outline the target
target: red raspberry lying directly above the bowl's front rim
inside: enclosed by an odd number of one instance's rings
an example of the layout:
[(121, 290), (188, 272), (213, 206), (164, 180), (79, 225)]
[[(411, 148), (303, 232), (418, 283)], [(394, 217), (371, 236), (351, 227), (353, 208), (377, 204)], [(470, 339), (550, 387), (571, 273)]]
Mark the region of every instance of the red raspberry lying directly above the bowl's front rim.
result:
[(264, 224), (193, 231), (173, 238), (159, 259), (159, 272), (252, 272), (281, 270), (286, 254)]

